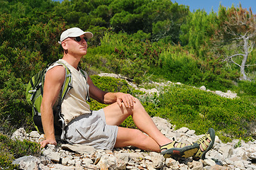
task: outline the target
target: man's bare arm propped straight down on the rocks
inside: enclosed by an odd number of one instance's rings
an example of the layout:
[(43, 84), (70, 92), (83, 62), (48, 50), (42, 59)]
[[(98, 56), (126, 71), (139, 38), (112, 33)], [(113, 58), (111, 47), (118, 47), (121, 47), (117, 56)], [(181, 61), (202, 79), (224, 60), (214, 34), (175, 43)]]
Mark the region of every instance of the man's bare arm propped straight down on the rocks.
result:
[(64, 81), (65, 68), (62, 66), (53, 67), (45, 74), (43, 101), (41, 103), (41, 116), (45, 140), (41, 142), (41, 147), (45, 147), (48, 144), (57, 145), (52, 107), (57, 100), (57, 96), (60, 94), (60, 89)]

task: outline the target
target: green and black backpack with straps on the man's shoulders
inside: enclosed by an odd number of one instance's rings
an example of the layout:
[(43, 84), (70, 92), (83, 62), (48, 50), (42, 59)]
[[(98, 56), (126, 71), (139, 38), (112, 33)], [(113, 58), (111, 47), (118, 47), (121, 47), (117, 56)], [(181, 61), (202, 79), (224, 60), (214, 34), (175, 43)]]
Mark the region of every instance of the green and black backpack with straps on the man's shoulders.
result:
[[(57, 103), (57, 108), (53, 109), (55, 135), (63, 135), (62, 132), (64, 132), (65, 122), (61, 114), (61, 104), (63, 99), (65, 98), (65, 95), (69, 91), (69, 89), (72, 88), (72, 74), (64, 63), (57, 61), (52, 64), (55, 64), (55, 63), (62, 64), (65, 67), (65, 71), (66, 71), (65, 81), (60, 91), (60, 98)], [(40, 107), (43, 99), (43, 85), (45, 81), (45, 73), (47, 72), (48, 68), (52, 66), (52, 64), (49, 64), (48, 67), (46, 67), (45, 69), (35, 74), (28, 82), (28, 85), (26, 88), (26, 100), (28, 101), (30, 106), (32, 106), (33, 122), (36, 130), (38, 130), (38, 132), (41, 132), (41, 133), (44, 133), (42, 120), (41, 120), (41, 111), (40, 111)], [(84, 76), (84, 79), (87, 80), (88, 78), (87, 73), (84, 72), (82, 69), (80, 70)], [(88, 90), (87, 90), (87, 101), (90, 101)]]

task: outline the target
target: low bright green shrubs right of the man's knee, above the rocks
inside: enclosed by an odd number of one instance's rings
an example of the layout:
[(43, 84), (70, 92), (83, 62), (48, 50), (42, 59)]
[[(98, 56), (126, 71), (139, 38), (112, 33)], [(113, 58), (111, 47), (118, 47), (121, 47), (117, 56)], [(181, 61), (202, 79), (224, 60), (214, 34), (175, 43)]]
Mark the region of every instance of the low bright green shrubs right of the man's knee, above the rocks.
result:
[(253, 135), (256, 106), (243, 98), (223, 98), (177, 85), (166, 87), (157, 98), (159, 101), (154, 105), (154, 100), (143, 101), (146, 111), (170, 120), (177, 128), (187, 127), (199, 134), (214, 128), (225, 142)]

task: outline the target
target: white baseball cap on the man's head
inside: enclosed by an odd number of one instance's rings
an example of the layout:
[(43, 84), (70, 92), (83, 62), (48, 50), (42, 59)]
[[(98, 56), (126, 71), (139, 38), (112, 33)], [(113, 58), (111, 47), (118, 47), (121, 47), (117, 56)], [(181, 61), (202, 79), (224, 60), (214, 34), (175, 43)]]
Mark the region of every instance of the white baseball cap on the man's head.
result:
[(78, 37), (81, 35), (84, 35), (87, 39), (91, 39), (94, 36), (91, 32), (84, 32), (83, 30), (77, 27), (69, 28), (60, 35), (59, 44), (61, 44), (62, 40), (65, 40), (66, 38)]

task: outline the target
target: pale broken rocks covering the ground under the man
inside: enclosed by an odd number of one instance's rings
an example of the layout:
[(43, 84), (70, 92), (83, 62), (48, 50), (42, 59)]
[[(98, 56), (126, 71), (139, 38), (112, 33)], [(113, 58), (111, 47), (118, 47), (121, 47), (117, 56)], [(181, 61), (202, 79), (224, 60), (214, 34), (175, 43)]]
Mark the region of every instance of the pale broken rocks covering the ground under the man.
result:
[[(202, 137), (195, 135), (194, 130), (174, 126), (162, 118), (152, 118), (157, 128), (178, 142), (191, 143)], [(43, 140), (38, 132), (26, 134), (23, 128), (13, 133), (13, 139), (29, 139), (35, 142)], [(206, 154), (206, 159), (172, 158), (165, 159), (156, 152), (145, 152), (133, 147), (111, 150), (98, 150), (84, 145), (49, 145), (43, 149), (41, 157), (26, 156), (16, 159), (20, 169), (256, 169), (256, 142), (234, 140), (223, 143), (216, 136), (215, 144)]]

